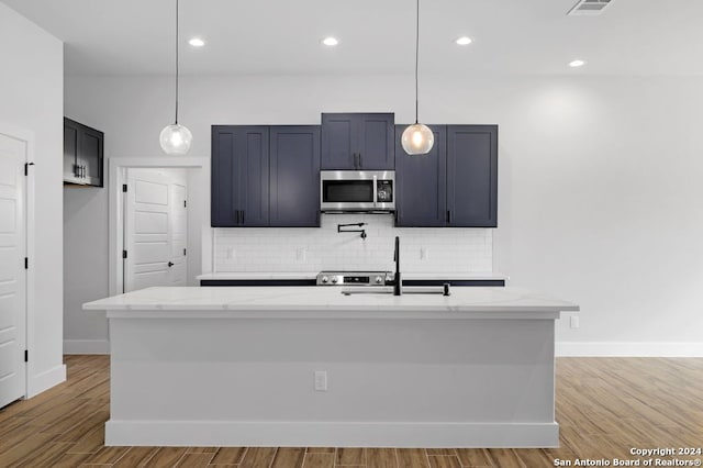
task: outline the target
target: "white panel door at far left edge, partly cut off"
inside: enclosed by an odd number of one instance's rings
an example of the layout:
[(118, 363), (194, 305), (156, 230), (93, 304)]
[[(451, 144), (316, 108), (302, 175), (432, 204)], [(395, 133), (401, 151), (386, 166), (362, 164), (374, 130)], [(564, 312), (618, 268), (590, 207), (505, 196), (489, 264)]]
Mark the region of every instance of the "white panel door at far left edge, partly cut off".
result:
[(26, 143), (0, 133), (0, 408), (26, 388)]

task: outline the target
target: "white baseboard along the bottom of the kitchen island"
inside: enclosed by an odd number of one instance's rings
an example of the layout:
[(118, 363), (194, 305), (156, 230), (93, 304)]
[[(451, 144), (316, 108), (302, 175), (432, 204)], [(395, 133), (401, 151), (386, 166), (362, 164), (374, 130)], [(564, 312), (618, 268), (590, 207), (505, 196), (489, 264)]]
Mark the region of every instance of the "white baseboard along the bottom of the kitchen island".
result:
[(236, 447), (558, 447), (557, 423), (114, 421), (105, 445)]

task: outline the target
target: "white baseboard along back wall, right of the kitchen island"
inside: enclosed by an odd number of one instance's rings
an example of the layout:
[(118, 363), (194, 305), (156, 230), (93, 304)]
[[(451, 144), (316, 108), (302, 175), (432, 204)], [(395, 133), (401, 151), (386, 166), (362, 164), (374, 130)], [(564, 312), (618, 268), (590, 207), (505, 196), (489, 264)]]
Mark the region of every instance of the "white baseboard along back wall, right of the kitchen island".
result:
[(703, 357), (703, 343), (557, 342), (557, 356)]

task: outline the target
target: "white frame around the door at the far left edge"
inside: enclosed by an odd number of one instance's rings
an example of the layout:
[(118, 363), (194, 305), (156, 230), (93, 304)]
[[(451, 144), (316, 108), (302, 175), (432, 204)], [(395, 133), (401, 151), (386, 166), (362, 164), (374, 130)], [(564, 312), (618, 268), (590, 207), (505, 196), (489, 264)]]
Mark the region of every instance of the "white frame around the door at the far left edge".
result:
[[(34, 164), (34, 132), (21, 126), (13, 125), (8, 122), (0, 121), (0, 133), (10, 138), (19, 140), (25, 143), (24, 161)], [(35, 168), (36, 166), (34, 166)], [(35, 288), (35, 192), (34, 192), (34, 168), (30, 167), (24, 179), (24, 255), (30, 259), (30, 268), (24, 270), (25, 298), (24, 298), (24, 348), (34, 355), (35, 336), (34, 336), (34, 297)], [(43, 389), (34, 388), (34, 359), (24, 363), (24, 398), (36, 394)]]

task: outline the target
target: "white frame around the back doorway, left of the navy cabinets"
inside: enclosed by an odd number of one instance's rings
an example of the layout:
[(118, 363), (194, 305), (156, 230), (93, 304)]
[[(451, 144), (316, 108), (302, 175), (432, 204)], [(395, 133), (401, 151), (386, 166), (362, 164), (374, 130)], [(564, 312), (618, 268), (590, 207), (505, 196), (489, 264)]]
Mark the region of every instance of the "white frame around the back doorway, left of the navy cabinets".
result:
[[(110, 185), (110, 210), (109, 210), (109, 230), (110, 230), (110, 296), (122, 293), (123, 287), (123, 261), (122, 246), (124, 243), (124, 220), (123, 220), (123, 198), (122, 185), (125, 183), (125, 169), (200, 169), (196, 172), (192, 180), (194, 185), (202, 187), (204, 193), (210, 193), (210, 158), (200, 156), (187, 157), (112, 157), (108, 158), (109, 180)], [(189, 197), (192, 193), (188, 191)], [(202, 209), (201, 225), (201, 243), (202, 252), (212, 249), (212, 235), (210, 231), (210, 197), (203, 197), (205, 207), (198, 207), (192, 203), (193, 208)], [(191, 203), (189, 203), (191, 204)], [(191, 219), (189, 216), (188, 223)], [(202, 271), (210, 271), (212, 267), (212, 256), (202, 256)]]

